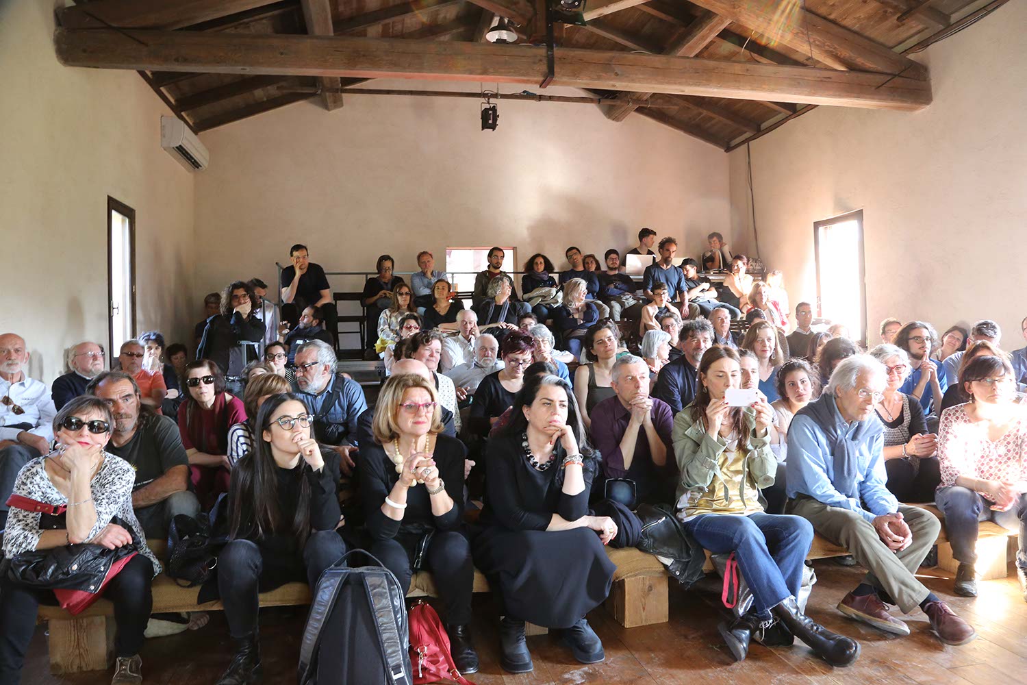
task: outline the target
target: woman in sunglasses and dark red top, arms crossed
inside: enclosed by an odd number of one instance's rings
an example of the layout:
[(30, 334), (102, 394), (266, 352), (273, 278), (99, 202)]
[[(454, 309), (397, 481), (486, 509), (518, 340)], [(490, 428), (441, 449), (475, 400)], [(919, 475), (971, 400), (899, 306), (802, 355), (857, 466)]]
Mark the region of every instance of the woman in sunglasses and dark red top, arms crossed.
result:
[(210, 359), (186, 365), (182, 375), (186, 401), (179, 407), (179, 434), (189, 456), (189, 474), (200, 506), (211, 508), (217, 496), (228, 492), (232, 469), (228, 459), (228, 429), (244, 423), (242, 401), (225, 391), (225, 376)]

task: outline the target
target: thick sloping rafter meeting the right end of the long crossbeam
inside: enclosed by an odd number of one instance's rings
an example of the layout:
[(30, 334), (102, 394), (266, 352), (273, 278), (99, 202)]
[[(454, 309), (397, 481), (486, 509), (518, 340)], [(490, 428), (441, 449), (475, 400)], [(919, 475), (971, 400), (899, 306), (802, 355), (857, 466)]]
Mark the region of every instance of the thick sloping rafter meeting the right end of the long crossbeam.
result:
[[(755, 29), (794, 50), (835, 69), (903, 74), (926, 79), (923, 65), (875, 43), (866, 36), (829, 22), (800, 3), (737, 2), (736, 0), (692, 0), (693, 4)], [(787, 9), (785, 9), (787, 8)], [(785, 12), (783, 16), (782, 13)]]

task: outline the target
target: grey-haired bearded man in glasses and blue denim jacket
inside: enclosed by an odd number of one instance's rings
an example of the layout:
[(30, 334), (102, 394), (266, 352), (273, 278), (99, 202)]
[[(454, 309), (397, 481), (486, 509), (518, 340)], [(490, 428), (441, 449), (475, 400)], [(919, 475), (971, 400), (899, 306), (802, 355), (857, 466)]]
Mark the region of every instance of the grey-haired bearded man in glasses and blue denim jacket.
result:
[(360, 385), (336, 373), (335, 365), (332, 346), (310, 340), (297, 350), (294, 373), (297, 392), (313, 416), (314, 437), (339, 453), (342, 472), (349, 475), (355, 465), (357, 419), (368, 401)]

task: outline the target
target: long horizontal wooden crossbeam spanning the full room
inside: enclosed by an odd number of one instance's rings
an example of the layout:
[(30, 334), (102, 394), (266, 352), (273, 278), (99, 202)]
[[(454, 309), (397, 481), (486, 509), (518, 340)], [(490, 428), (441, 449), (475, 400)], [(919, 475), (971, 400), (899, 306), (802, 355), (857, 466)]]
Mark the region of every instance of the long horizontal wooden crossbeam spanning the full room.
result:
[[(545, 48), (340, 36), (193, 31), (54, 31), (69, 67), (526, 83), (546, 74)], [(554, 85), (918, 110), (930, 83), (902, 76), (695, 58), (562, 48)]]

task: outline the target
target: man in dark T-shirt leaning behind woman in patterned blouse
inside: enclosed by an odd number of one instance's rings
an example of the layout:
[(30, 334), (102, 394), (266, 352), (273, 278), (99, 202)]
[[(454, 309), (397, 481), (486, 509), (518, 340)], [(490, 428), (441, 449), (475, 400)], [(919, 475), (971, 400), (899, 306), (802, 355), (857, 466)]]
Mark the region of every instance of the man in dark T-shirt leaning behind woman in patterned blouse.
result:
[(93, 378), (86, 391), (111, 408), (114, 425), (107, 451), (136, 469), (131, 503), (147, 537), (167, 537), (178, 513), (199, 513), (199, 500), (189, 492), (189, 458), (179, 427), (166, 416), (144, 407), (135, 379), (120, 371)]

